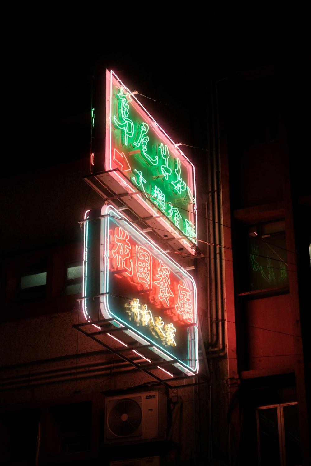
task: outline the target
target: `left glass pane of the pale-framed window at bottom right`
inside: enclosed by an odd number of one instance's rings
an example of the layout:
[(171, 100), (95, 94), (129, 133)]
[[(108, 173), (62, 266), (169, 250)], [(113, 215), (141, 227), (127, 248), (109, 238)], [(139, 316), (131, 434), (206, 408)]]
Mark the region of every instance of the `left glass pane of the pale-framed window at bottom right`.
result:
[(258, 410), (260, 464), (280, 466), (277, 407)]

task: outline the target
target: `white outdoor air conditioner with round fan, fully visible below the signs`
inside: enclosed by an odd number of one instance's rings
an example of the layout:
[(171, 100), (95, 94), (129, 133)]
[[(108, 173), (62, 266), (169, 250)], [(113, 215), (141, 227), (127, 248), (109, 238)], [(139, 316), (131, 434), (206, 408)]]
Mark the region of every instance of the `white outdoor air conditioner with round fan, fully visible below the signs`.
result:
[(106, 397), (105, 444), (164, 440), (167, 398), (160, 391)]

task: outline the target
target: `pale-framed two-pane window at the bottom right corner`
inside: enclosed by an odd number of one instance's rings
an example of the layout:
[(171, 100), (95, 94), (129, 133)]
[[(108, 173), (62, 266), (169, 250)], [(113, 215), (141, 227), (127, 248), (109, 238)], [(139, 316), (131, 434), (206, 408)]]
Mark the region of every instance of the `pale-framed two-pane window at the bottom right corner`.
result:
[(301, 465), (297, 403), (257, 408), (259, 466)]

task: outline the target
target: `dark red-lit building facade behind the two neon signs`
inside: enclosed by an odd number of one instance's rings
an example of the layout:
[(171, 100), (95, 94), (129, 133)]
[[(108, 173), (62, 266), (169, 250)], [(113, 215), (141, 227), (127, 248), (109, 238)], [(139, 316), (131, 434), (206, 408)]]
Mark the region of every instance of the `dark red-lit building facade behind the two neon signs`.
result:
[[(256, 42), (272, 17), (258, 11), (244, 12), (247, 60), (238, 39), (219, 45), (229, 13), (210, 12), (206, 46), (218, 42), (219, 57), (202, 62), (204, 98), (180, 110), (194, 254), (129, 213), (89, 154), (1, 178), (3, 464), (310, 464), (310, 59), (293, 38), (290, 56), (274, 55), (276, 36)], [(104, 143), (97, 133), (93, 149)], [(85, 319), (85, 212), (104, 205), (193, 278), (198, 373), (145, 353), (103, 315), (98, 327)]]

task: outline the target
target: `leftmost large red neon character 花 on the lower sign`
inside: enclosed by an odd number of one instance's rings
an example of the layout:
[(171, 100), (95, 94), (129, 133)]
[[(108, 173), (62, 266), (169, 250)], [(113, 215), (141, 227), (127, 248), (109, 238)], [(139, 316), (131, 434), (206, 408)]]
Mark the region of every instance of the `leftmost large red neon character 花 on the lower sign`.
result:
[(133, 261), (131, 260), (131, 245), (129, 233), (121, 227), (116, 227), (114, 235), (111, 235), (111, 244), (114, 245), (111, 254), (112, 266), (124, 276), (133, 275)]

